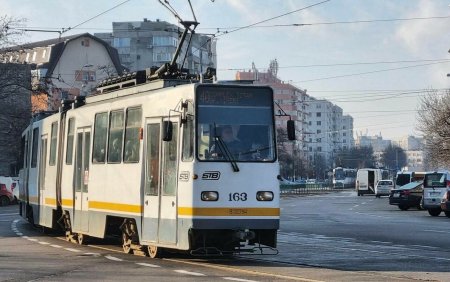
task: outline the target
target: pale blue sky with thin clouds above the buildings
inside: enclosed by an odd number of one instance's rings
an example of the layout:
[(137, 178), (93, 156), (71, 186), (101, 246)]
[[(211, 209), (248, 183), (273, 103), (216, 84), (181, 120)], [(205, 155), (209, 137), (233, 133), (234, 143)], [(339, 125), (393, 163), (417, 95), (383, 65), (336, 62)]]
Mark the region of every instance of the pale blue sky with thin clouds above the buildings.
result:
[[(186, 0), (169, 3), (183, 20), (194, 19)], [(252, 63), (264, 72), (276, 59), (281, 80), (352, 115), (355, 135), (420, 136), (421, 100), (450, 88), (450, 0), (191, 3), (196, 32), (216, 36), (219, 80)], [(144, 18), (178, 24), (158, 0), (0, 0), (1, 15), (25, 18), (29, 29), (70, 28), (64, 35), (110, 32), (112, 22)], [(57, 36), (28, 32), (20, 40)]]

